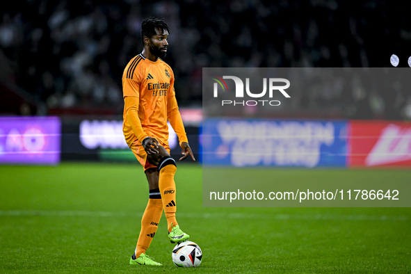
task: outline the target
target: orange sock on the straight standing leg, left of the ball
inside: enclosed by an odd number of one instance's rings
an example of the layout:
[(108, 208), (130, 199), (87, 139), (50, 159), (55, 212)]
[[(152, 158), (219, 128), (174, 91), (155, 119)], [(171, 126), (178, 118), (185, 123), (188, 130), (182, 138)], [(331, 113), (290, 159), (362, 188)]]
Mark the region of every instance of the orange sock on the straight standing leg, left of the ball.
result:
[(141, 218), (140, 236), (138, 236), (135, 251), (137, 258), (140, 257), (141, 253), (145, 253), (145, 250), (150, 246), (156, 234), (162, 213), (163, 203), (161, 202), (161, 196), (157, 188), (150, 191), (150, 199), (143, 213), (143, 218)]

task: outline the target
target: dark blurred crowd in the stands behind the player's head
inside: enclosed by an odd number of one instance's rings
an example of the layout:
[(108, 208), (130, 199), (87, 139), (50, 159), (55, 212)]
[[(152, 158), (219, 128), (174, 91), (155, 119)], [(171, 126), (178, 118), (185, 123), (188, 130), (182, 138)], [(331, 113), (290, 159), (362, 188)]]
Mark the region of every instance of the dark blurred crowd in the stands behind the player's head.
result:
[[(200, 107), (202, 67), (390, 67), (392, 54), (406, 67), (411, 30), (405, 5), (382, 0), (15, 1), (0, 12), (0, 59), (10, 67), (8, 78), (0, 81), (14, 81), (43, 102), (43, 114), (59, 109), (121, 114), (122, 72), (143, 49), (141, 22), (155, 16), (170, 27), (164, 60), (175, 72), (179, 106)], [(341, 106), (341, 118), (376, 118), (346, 111), (350, 104), (359, 107), (350, 92), (307, 94), (313, 103), (302, 99), (295, 109), (316, 113), (344, 99), (348, 107)], [(378, 108), (371, 111), (377, 118), (411, 118), (410, 90), (365, 89), (360, 97), (366, 107)]]

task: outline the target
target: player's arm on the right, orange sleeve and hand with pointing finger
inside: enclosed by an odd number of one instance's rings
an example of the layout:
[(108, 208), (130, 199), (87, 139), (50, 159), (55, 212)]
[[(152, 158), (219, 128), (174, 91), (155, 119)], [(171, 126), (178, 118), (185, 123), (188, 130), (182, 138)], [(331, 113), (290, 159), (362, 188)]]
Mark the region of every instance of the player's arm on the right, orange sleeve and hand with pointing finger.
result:
[(190, 145), (188, 145), (188, 138), (186, 130), (184, 129), (182, 115), (179, 112), (177, 99), (175, 99), (174, 76), (170, 79), (170, 90), (168, 92), (167, 119), (179, 138), (180, 147), (182, 147), (183, 156), (180, 158), (180, 161), (186, 159), (188, 155), (190, 155), (191, 159), (195, 161), (193, 151), (191, 150)]

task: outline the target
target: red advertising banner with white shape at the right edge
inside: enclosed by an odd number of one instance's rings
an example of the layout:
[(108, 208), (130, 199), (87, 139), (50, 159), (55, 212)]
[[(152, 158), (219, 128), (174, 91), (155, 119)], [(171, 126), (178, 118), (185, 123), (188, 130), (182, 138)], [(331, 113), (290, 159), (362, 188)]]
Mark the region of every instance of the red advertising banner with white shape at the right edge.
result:
[(351, 120), (348, 167), (411, 166), (411, 123)]

